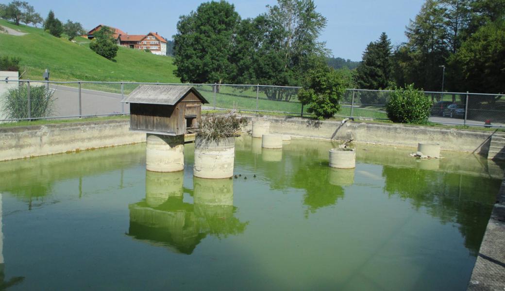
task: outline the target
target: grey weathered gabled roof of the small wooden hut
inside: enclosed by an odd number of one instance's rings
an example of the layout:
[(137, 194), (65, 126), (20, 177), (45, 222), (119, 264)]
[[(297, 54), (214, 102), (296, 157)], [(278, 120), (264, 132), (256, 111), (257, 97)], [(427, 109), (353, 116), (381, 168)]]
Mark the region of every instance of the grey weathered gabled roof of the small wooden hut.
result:
[(195, 88), (182, 85), (140, 85), (121, 102), (175, 105), (189, 92), (193, 92), (204, 104), (209, 103)]

